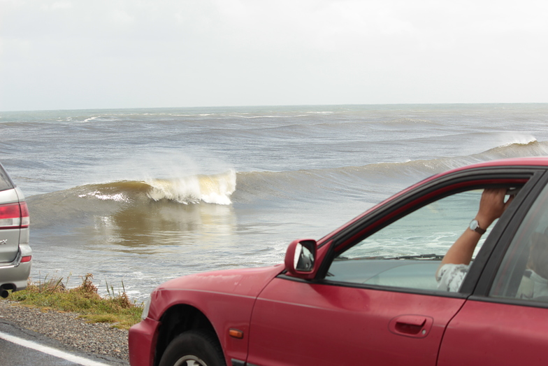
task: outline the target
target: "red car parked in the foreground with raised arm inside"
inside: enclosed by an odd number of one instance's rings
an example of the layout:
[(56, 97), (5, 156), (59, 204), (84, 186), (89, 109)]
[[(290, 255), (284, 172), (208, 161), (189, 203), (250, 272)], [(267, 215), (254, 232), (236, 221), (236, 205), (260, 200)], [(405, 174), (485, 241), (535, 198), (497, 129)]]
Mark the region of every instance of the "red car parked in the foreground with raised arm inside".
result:
[[(129, 331), (131, 365), (547, 365), (547, 183), (548, 157), (454, 169), (294, 241), (282, 265), (168, 281)], [(440, 288), (485, 188), (514, 198)]]

